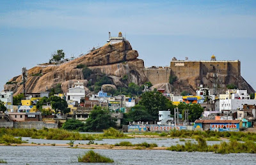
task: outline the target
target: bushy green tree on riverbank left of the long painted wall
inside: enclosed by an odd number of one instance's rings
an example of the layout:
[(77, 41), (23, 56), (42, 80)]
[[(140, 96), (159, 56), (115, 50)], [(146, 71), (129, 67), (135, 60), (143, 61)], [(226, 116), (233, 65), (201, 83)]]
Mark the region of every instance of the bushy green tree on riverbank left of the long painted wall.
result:
[(109, 127), (116, 127), (116, 123), (111, 119), (109, 111), (100, 106), (94, 106), (90, 117), (86, 119), (85, 130), (89, 132), (102, 131)]

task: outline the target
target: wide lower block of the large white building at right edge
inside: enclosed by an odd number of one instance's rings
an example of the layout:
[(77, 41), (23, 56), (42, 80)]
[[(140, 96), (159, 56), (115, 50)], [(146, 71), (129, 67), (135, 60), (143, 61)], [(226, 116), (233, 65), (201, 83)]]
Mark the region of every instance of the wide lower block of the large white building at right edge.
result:
[(242, 110), (244, 104), (256, 104), (256, 99), (220, 99), (220, 111)]

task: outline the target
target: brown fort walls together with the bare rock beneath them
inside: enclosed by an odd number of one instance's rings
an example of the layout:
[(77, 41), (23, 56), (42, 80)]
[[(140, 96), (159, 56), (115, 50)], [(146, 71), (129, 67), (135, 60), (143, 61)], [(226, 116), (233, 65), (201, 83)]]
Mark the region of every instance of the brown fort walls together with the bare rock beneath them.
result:
[(255, 91), (241, 76), (240, 61), (216, 61), (214, 55), (211, 61), (188, 61), (188, 57), (186, 60), (177, 60), (173, 57), (170, 67), (152, 66), (145, 68), (144, 73), (153, 85), (168, 83), (172, 76), (174, 81), (168, 90), (177, 94), (184, 90), (193, 94), (201, 84), (214, 88), (216, 94), (226, 89), (228, 84), (247, 89), (249, 93)]

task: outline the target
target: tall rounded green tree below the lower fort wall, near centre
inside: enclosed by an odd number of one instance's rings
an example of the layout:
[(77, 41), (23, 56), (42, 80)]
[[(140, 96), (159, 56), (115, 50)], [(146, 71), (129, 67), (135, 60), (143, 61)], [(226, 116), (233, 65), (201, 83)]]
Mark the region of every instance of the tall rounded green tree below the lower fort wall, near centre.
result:
[(141, 94), (141, 101), (139, 104), (145, 106), (146, 110), (155, 119), (158, 118), (158, 111), (168, 110), (166, 104), (168, 99), (156, 90), (144, 92)]

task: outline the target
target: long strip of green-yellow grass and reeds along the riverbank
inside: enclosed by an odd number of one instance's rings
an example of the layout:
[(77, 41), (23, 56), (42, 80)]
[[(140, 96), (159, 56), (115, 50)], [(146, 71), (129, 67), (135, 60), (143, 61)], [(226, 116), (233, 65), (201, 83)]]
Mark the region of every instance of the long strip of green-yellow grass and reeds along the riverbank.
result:
[[(141, 144), (132, 144), (131, 141), (119, 141), (116, 140), (115, 144), (110, 144), (110, 148), (115, 146), (121, 147), (130, 147), (130, 149), (134, 149), (132, 147), (136, 147), (135, 149), (161, 149), (161, 150), (172, 150), (172, 151), (187, 151), (187, 152), (215, 152), (220, 154), (227, 153), (256, 153), (256, 143), (255, 141), (255, 133), (235, 133), (235, 132), (212, 132), (212, 131), (177, 131), (173, 130), (169, 133), (143, 133), (143, 134), (124, 134), (116, 129), (110, 128), (104, 130), (102, 134), (80, 134), (77, 132), (69, 132), (63, 129), (0, 129), (0, 143), (5, 145), (10, 145), (11, 143), (28, 143), (28, 141), (22, 141), (22, 138), (14, 138), (13, 136), (26, 136), (34, 139), (43, 139), (43, 140), (70, 140), (69, 144), (74, 144), (74, 140), (90, 140), (90, 144), (93, 144), (93, 140), (102, 140), (102, 139), (128, 139), (134, 138), (136, 136), (140, 136), (142, 138), (191, 138), (191, 140), (180, 139), (179, 141), (184, 141), (183, 144), (173, 144), (168, 146), (162, 145), (162, 148), (159, 148), (157, 143), (147, 143), (147, 139)], [(161, 139), (159, 139), (161, 140)], [(220, 143), (209, 144), (206, 140), (211, 141), (221, 141)], [(230, 140), (228, 142), (223, 140)], [(237, 140), (243, 140), (244, 143), (240, 143)], [(185, 142), (186, 141), (186, 142)], [(57, 144), (60, 141), (57, 142)], [(32, 142), (31, 142), (32, 143)], [(124, 145), (125, 144), (125, 145)], [(56, 143), (54, 143), (56, 145)], [(81, 145), (81, 144), (79, 144)], [(101, 143), (100, 145), (104, 145)], [(108, 144), (109, 145), (109, 144)], [(79, 147), (79, 146), (77, 146)], [(82, 145), (82, 147), (84, 147)], [(157, 148), (158, 147), (158, 148)], [(165, 148), (164, 148), (165, 147)], [(85, 147), (88, 148), (88, 147)], [(97, 147), (99, 148), (99, 147)], [(104, 147), (103, 147), (104, 148)], [(105, 147), (108, 148), (108, 147)], [(118, 149), (118, 148), (116, 148)], [(122, 149), (122, 148), (119, 148)]]

